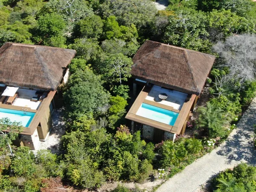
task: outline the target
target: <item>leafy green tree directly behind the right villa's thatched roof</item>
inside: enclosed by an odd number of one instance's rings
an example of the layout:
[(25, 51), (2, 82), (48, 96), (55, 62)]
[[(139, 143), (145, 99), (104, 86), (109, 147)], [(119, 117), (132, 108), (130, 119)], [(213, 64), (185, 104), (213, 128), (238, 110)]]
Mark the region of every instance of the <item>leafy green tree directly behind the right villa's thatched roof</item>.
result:
[(163, 42), (178, 47), (209, 52), (209, 33), (206, 30), (207, 17), (193, 9), (179, 10), (169, 16), (169, 24)]

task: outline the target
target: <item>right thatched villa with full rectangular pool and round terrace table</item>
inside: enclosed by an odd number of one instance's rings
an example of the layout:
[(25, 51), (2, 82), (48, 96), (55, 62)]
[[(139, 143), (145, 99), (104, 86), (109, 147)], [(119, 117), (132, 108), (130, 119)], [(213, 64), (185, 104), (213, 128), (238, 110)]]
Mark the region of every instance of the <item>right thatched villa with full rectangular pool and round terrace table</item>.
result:
[(204, 87), (215, 57), (180, 47), (145, 41), (133, 58), (134, 95), (142, 91), (126, 119), (148, 140), (175, 140)]

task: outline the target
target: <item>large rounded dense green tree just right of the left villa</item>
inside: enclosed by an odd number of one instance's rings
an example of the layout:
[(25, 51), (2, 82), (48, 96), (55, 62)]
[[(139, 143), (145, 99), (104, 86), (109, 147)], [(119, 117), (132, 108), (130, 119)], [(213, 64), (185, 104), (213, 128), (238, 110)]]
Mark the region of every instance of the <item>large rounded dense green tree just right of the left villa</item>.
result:
[(108, 110), (109, 93), (102, 80), (90, 69), (77, 70), (70, 76), (64, 93), (67, 116), (72, 119), (85, 113), (101, 114)]

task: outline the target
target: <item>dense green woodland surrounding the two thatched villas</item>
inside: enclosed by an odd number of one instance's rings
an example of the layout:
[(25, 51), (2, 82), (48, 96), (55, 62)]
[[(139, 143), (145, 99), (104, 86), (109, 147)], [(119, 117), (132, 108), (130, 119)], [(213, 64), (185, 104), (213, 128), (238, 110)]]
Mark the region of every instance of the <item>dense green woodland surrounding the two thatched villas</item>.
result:
[[(35, 155), (20, 147), (11, 157), (17, 134), (3, 134), (0, 190), (36, 192), (45, 177), (94, 189), (106, 181), (143, 182), (153, 168), (169, 168), (170, 176), (184, 169), (215, 144), (214, 138), (230, 133), (230, 122), (255, 96), (255, 33), (251, 0), (169, 0), (158, 12), (151, 0), (0, 0), (0, 46), (11, 41), (76, 49), (61, 90), (67, 131), (63, 153)], [(206, 140), (181, 138), (155, 147), (125, 126), (131, 58), (145, 39), (216, 55), (207, 80), (211, 99), (198, 109), (195, 126), (205, 131)], [(6, 119), (0, 124), (0, 131), (12, 125)], [(11, 128), (20, 131), (19, 124)], [(225, 182), (236, 177), (222, 175)], [(235, 180), (239, 189), (255, 185)]]

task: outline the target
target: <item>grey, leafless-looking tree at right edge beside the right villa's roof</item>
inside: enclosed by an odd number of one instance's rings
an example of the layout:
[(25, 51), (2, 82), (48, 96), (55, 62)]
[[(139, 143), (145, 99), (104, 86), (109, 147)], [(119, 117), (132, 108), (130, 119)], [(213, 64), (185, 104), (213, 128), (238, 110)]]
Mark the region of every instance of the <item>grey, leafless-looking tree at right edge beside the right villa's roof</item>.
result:
[(253, 81), (256, 76), (256, 35), (243, 34), (219, 41), (213, 46), (222, 63), (218, 67), (227, 67), (227, 77), (242, 84), (244, 81)]

